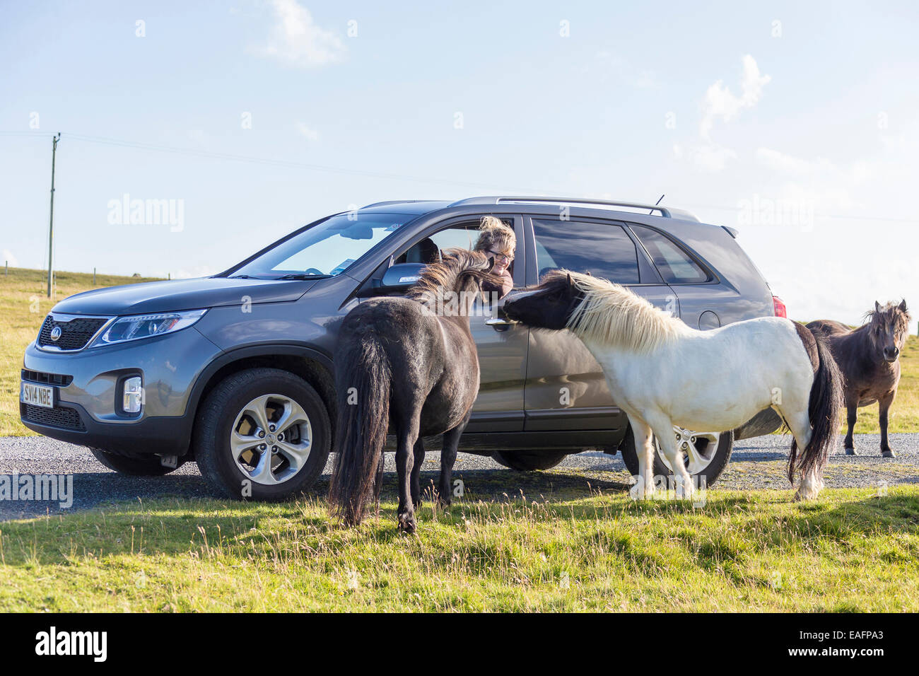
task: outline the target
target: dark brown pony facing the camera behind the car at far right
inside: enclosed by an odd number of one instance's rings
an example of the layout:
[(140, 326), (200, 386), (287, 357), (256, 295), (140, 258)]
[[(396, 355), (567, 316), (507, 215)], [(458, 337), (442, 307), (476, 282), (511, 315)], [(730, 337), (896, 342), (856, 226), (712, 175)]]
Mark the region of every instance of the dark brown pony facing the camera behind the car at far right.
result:
[(807, 326), (829, 338), (830, 349), (845, 378), (845, 453), (856, 454), (852, 428), (856, 425), (857, 408), (878, 402), (880, 453), (894, 458), (896, 454), (887, 442), (887, 414), (900, 383), (897, 358), (909, 334), (910, 314), (906, 301), (883, 307), (875, 301), (874, 310), (865, 318), (865, 324), (854, 330), (829, 319), (818, 319)]

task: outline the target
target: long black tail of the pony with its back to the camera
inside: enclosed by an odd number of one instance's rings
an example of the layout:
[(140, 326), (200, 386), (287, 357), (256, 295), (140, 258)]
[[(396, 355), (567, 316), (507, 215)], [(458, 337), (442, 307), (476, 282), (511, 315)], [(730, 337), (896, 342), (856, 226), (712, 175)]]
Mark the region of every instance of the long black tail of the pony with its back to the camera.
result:
[(338, 453), (329, 507), (352, 526), (363, 520), (371, 496), (380, 499), (377, 470), (390, 424), (392, 373), (389, 356), (376, 338), (368, 336), (343, 345), (346, 348), (335, 355)]

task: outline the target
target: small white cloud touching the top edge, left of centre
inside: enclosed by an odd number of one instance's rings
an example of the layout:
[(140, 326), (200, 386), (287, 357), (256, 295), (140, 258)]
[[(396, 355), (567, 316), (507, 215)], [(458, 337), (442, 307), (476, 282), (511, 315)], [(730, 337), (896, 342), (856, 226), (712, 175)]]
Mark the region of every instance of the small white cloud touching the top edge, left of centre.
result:
[(299, 68), (341, 60), (345, 44), (335, 32), (317, 26), (310, 10), (297, 0), (270, 0), (270, 5), (277, 22), (267, 44), (255, 53)]

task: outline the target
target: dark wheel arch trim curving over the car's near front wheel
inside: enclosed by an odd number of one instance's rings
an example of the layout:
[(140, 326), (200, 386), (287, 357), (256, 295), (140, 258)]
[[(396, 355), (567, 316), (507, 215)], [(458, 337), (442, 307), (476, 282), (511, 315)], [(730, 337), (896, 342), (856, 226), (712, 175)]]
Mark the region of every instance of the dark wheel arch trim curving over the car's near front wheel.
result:
[[(210, 391), (233, 373), (253, 368), (271, 368), (287, 371), (301, 377), (312, 385), (329, 414), (331, 421), (332, 448), (335, 449), (335, 375), (332, 359), (320, 349), (291, 344), (260, 344), (223, 352), (211, 361), (200, 373), (192, 386), (186, 413), (192, 414), (191, 438), (194, 439), (198, 426), (198, 411)], [(195, 452), (189, 443), (188, 454)]]

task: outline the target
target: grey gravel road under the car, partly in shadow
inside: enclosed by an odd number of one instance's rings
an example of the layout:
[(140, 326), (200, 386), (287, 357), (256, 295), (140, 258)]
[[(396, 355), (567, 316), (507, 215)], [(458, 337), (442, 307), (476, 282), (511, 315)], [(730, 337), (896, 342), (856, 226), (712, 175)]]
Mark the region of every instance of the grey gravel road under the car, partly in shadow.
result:
[[(776, 435), (738, 441), (732, 461), (721, 475), (716, 488), (789, 489), (784, 475), (790, 437)], [(855, 457), (842, 454), (842, 443), (830, 459), (824, 480), (827, 487), (879, 487), (902, 483), (919, 483), (919, 434), (891, 434), (891, 447), (898, 457), (880, 457), (879, 435), (856, 437), (861, 453)], [(425, 456), (425, 481), (437, 477), (439, 453)], [(323, 483), (327, 487), (331, 464), (326, 465)], [(386, 458), (386, 490), (395, 490), (395, 467), (391, 453)], [(548, 495), (561, 488), (584, 490), (625, 490), (630, 481), (618, 455), (578, 453), (569, 455), (559, 466), (546, 472), (520, 473), (508, 470), (491, 458), (459, 453), (455, 475), (461, 478), (473, 495), (513, 494), (524, 490), (529, 495)], [(124, 476), (111, 472), (96, 462), (82, 446), (53, 441), (45, 437), (0, 438), (0, 475), (73, 475), (73, 506), (70, 509), (106, 507), (114, 501), (146, 500), (165, 496), (206, 498), (208, 490), (198, 472), (198, 465), (188, 463), (176, 472), (161, 477)], [(9, 480), (7, 480), (9, 481)], [(23, 519), (61, 511), (57, 502), (0, 499), (0, 521)]]

